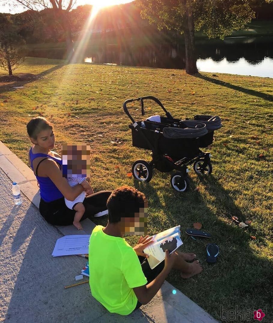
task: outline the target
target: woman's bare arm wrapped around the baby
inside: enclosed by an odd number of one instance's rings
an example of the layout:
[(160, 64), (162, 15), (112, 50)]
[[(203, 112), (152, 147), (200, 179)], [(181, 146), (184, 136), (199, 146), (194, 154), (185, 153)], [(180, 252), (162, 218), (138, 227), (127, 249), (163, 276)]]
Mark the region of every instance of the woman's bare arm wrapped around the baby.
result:
[(59, 191), (67, 200), (74, 201), (75, 198), (84, 191), (82, 185), (80, 184), (77, 184), (73, 187), (68, 184), (66, 178), (62, 177), (62, 172), (60, 171), (56, 161), (47, 159), (40, 165), (43, 165), (42, 167), (43, 170), (46, 171), (46, 175), (57, 186)]

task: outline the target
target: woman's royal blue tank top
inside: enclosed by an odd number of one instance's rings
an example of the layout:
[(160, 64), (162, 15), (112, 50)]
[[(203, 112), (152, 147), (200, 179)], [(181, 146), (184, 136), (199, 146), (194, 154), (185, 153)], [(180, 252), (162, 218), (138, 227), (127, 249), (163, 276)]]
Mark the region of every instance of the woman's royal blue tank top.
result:
[[(62, 160), (46, 155), (46, 154), (42, 154), (42, 153), (38, 153), (38, 154), (34, 154), (32, 152), (32, 148), (30, 148), (29, 150), (29, 157), (30, 157), (30, 163), (31, 163), (31, 168), (34, 172), (33, 169), (33, 160), (37, 157), (45, 157), (45, 158), (50, 158), (53, 159), (54, 161), (56, 161), (58, 164), (62, 165)], [(35, 175), (37, 178), (37, 181), (39, 183), (39, 187), (40, 187), (40, 195), (41, 198), (45, 201), (45, 202), (52, 202), (55, 200), (60, 199), (61, 197), (63, 197), (62, 193), (59, 191), (59, 189), (57, 188), (57, 186), (51, 181), (51, 179), (49, 177), (41, 177), (41, 176), (37, 176)]]

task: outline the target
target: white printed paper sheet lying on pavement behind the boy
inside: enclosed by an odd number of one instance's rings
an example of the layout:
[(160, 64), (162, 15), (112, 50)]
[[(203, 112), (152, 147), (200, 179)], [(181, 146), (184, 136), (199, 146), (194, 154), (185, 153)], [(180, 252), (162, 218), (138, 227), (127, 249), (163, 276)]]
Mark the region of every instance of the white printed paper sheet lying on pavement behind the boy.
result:
[(56, 241), (52, 256), (88, 254), (89, 239), (90, 234), (65, 235)]

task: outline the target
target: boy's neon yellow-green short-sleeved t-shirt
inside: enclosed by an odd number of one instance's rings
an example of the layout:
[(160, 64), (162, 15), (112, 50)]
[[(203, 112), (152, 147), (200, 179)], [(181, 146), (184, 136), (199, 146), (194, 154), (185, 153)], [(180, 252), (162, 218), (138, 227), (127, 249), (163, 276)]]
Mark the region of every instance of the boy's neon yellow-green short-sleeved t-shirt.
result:
[(97, 225), (89, 240), (89, 285), (92, 296), (111, 313), (130, 314), (137, 305), (134, 287), (147, 284), (135, 250), (125, 239)]

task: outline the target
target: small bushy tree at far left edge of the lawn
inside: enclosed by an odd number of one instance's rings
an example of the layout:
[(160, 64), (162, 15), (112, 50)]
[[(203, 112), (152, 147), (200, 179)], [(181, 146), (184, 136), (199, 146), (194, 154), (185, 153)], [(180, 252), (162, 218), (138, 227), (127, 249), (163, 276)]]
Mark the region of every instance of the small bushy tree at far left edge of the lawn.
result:
[(0, 13), (0, 67), (12, 72), (24, 59), (22, 46), (24, 40), (10, 16)]

